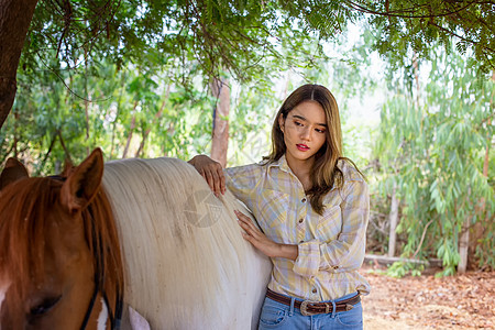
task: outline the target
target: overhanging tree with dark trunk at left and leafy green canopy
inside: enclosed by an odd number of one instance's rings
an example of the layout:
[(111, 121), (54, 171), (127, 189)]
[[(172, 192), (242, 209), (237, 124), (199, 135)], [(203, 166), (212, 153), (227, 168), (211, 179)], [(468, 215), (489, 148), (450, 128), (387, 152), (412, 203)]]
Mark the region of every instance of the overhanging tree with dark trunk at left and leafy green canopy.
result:
[(404, 57), (396, 55), (404, 56), (408, 48), (425, 54), (437, 40), (449, 45), (457, 35), (460, 50), (472, 46), (485, 67), (494, 67), (495, 10), (491, 1), (37, 2), (0, 1), (0, 127), (13, 102), (15, 72), (29, 29), (22, 65), (33, 69), (40, 61), (47, 62), (44, 53), (52, 50), (52, 58), (73, 68), (95, 54), (112, 58), (118, 66), (125, 61), (145, 65), (148, 56), (194, 56), (210, 76), (218, 76), (222, 67), (235, 78), (249, 79), (263, 72), (257, 65), (261, 58), (280, 57), (277, 43), (284, 38), (297, 34), (299, 38), (315, 35), (329, 40), (349, 20), (366, 13), (370, 24), (383, 31), (375, 46), (397, 61)]

